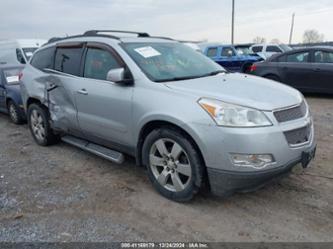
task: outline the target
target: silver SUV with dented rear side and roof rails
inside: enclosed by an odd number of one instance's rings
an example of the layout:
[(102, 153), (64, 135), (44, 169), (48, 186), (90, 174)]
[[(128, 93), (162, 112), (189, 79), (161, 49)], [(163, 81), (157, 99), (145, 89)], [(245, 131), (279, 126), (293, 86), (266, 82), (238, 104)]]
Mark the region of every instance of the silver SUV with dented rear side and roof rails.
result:
[(23, 71), (39, 145), (60, 139), (113, 162), (147, 167), (165, 197), (254, 190), (301, 163), (316, 143), (295, 89), (229, 73), (172, 39), (88, 31), (54, 39)]

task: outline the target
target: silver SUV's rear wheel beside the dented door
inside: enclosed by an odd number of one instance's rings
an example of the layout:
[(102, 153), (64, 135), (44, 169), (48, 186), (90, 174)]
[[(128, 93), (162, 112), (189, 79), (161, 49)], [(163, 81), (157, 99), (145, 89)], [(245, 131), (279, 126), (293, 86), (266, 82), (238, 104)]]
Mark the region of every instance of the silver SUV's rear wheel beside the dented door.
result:
[(30, 132), (37, 144), (47, 146), (59, 141), (59, 137), (53, 133), (50, 126), (49, 112), (46, 107), (31, 104), (27, 115)]

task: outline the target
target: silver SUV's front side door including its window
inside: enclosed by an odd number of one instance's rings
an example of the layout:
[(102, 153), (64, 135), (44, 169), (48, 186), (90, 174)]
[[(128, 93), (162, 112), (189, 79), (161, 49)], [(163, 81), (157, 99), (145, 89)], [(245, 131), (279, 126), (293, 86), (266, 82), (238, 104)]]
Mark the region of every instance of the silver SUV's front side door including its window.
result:
[(82, 132), (111, 146), (127, 146), (131, 138), (133, 87), (106, 80), (109, 70), (121, 67), (126, 65), (110, 46), (87, 43), (75, 92)]

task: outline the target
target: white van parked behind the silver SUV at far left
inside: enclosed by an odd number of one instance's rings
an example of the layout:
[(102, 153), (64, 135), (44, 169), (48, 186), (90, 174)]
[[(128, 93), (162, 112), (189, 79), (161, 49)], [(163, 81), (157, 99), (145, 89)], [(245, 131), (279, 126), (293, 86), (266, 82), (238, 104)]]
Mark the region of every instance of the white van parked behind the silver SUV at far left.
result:
[(25, 64), (46, 42), (42, 39), (0, 40), (0, 64)]

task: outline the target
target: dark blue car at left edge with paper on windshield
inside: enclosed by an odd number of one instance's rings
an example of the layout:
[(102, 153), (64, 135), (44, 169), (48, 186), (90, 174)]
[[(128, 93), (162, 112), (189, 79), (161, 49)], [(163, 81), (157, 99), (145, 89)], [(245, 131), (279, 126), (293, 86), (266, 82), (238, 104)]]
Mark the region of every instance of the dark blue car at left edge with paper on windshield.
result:
[(0, 111), (8, 113), (15, 124), (26, 120), (19, 85), (22, 70), (22, 66), (0, 65)]

